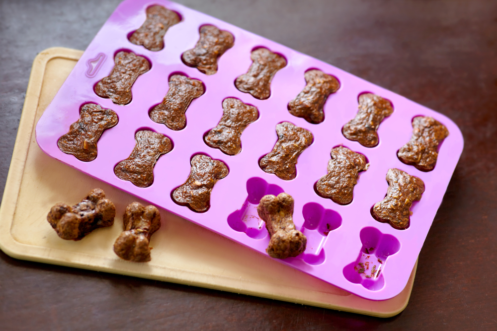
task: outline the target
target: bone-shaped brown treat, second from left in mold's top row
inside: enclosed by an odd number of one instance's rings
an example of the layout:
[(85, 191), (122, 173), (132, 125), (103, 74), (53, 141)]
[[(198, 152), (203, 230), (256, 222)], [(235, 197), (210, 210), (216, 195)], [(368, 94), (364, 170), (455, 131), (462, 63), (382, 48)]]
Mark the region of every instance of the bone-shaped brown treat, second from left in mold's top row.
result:
[(219, 30), (214, 25), (202, 25), (199, 29), (200, 38), (191, 50), (181, 55), (181, 60), (187, 66), (193, 66), (199, 71), (213, 75), (217, 72), (217, 59), (233, 47), (235, 38), (225, 30)]

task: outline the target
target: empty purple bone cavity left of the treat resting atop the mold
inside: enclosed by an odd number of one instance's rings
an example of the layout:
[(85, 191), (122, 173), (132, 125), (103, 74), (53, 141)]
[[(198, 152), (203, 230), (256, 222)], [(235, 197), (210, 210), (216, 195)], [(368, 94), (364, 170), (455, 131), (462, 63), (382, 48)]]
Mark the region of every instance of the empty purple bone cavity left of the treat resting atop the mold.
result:
[(257, 214), (257, 205), (266, 195), (277, 196), (283, 193), (277, 185), (269, 184), (259, 177), (252, 177), (247, 181), (247, 199), (242, 207), (228, 216), (228, 225), (235, 231), (244, 232), (253, 239), (263, 239), (268, 232), (263, 220)]

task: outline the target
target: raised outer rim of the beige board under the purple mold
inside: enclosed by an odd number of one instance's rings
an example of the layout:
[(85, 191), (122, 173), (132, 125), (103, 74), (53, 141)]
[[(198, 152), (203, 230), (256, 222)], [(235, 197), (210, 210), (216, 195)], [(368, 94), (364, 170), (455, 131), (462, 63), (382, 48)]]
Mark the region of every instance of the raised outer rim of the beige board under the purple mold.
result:
[[(63, 47), (53, 47), (48, 48), (42, 52), (40, 52), (33, 61), (33, 66), (31, 70), (31, 75), (27, 87), (26, 98), (24, 101), (23, 111), (21, 114), (21, 119), (19, 123), (19, 129), (17, 132), (17, 137), (14, 145), (14, 151), (12, 153), (12, 159), (10, 163), (9, 172), (7, 175), (7, 181), (5, 184), (5, 189), (3, 192), (3, 198), (0, 205), (0, 226), (2, 228), (11, 228), (12, 222), (14, 220), (15, 208), (18, 200), (18, 193), (20, 189), (20, 183), (22, 181), (22, 175), (24, 173), (24, 166), (27, 157), (28, 148), (30, 145), (30, 139), (32, 137), (33, 125), (35, 120), (35, 115), (38, 109), (38, 101), (41, 93), (41, 87), (44, 79), (45, 69), (47, 63), (55, 58), (69, 59), (73, 61), (78, 61), (83, 54), (83, 51), (73, 50)], [(49, 249), (46, 247), (39, 246), (30, 246), (26, 244), (19, 243), (15, 241), (12, 237), (10, 231), (0, 231), (0, 249), (7, 255), (15, 259), (41, 262), (41, 263), (49, 263), (54, 265), (65, 265), (65, 266), (73, 266), (97, 271), (105, 271), (111, 273), (125, 274), (131, 276), (138, 276), (146, 278), (143, 274), (131, 274), (126, 271), (119, 270), (102, 270), (98, 266), (93, 266), (90, 264), (70, 264), (67, 261), (58, 260), (56, 258), (50, 257)], [(405, 290), (402, 292), (403, 294), (394, 297), (390, 300), (377, 302), (371, 301), (367, 299), (362, 299), (360, 297), (356, 297), (351, 294), (347, 296), (347, 298), (353, 298), (355, 300), (365, 300), (366, 302), (375, 302), (375, 306), (378, 308), (378, 305), (383, 306), (389, 302), (393, 302), (394, 300), (401, 299), (399, 303), (394, 304), (394, 307), (389, 307), (387, 309), (357, 309), (353, 308), (352, 305), (349, 306), (340, 305), (340, 304), (329, 304), (325, 302), (316, 302), (316, 301), (308, 301), (302, 300), (298, 298), (291, 298), (289, 296), (281, 296), (275, 297), (271, 296), (268, 293), (263, 291), (254, 290), (252, 292), (246, 291), (244, 289), (236, 288), (234, 286), (226, 286), (226, 288), (222, 288), (219, 284), (208, 283), (205, 281), (188, 282), (182, 280), (180, 277), (171, 277), (170, 279), (158, 278), (158, 280), (162, 281), (170, 281), (176, 283), (182, 283), (187, 285), (194, 285), (218, 290), (226, 290), (230, 292), (243, 293), (248, 295), (254, 295), (259, 297), (265, 297), (269, 299), (278, 299), (282, 301), (295, 302), (301, 304), (308, 304), (311, 306), (317, 306), (327, 309), (335, 309), (340, 311), (359, 313), (363, 315), (370, 315), (375, 317), (388, 318), (395, 316), (402, 312), (409, 303), (409, 298), (413, 289), (414, 276), (417, 267), (417, 261), (414, 265), (411, 279), (408, 282)], [(408, 291), (407, 293), (405, 291)], [(407, 295), (406, 295), (407, 294)], [(402, 299), (401, 296), (404, 296)]]

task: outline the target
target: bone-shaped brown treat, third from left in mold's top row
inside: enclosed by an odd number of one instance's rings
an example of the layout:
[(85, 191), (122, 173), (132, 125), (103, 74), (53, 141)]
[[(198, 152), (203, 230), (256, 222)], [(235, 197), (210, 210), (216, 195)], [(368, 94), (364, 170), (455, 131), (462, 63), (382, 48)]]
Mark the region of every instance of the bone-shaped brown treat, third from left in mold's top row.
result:
[(286, 60), (263, 47), (252, 51), (250, 59), (252, 64), (247, 73), (237, 77), (235, 86), (254, 98), (267, 99), (271, 95), (271, 80), (276, 71), (286, 66)]

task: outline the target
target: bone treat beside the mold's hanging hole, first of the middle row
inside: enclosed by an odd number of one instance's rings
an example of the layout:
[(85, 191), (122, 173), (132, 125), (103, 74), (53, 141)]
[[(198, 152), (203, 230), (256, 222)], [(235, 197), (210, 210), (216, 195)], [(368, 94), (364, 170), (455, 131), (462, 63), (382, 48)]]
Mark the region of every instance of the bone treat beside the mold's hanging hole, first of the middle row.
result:
[(126, 105), (131, 102), (131, 86), (139, 75), (150, 70), (150, 63), (144, 57), (125, 51), (117, 53), (114, 62), (110, 74), (96, 84), (95, 93)]

